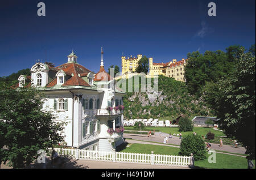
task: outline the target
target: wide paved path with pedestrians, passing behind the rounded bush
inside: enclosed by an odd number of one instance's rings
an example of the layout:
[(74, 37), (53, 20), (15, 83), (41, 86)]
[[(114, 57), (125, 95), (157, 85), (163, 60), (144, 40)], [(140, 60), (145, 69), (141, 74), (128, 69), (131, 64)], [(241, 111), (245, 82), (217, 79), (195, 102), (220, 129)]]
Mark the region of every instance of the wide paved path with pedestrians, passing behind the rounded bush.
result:
[[(152, 143), (158, 142), (158, 143), (163, 143), (164, 137), (169, 135), (167, 133), (162, 132), (161, 136), (159, 132), (155, 132), (155, 135), (151, 135), (151, 137), (148, 137), (147, 135), (141, 135), (141, 134), (123, 134), (123, 138), (131, 138), (133, 140), (144, 140), (144, 141), (150, 141)], [(128, 140), (128, 139), (127, 139)], [(172, 136), (172, 138), (168, 138), (168, 144), (177, 144), (180, 145), (181, 139), (179, 139), (178, 136)], [(141, 143), (142, 144), (142, 143)], [(233, 145), (223, 145), (222, 147), (219, 146), (219, 144), (213, 144), (212, 149), (218, 150), (218, 151), (226, 151), (230, 153), (240, 153), (240, 154), (245, 154), (246, 149), (243, 147), (233, 147)], [(161, 144), (158, 144), (161, 145)], [(166, 145), (166, 144), (163, 144)]]

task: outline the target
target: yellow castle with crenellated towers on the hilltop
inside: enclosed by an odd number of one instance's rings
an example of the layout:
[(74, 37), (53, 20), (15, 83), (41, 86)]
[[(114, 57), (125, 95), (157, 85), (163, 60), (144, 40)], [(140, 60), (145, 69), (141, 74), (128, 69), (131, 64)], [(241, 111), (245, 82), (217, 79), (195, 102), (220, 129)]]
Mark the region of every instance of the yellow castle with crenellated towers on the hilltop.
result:
[[(142, 58), (142, 55), (139, 54), (137, 57), (122, 56), (122, 78), (128, 78), (127, 74), (129, 72), (135, 72), (138, 67), (138, 62)], [(181, 82), (185, 82), (184, 78), (184, 67), (186, 65), (186, 61), (188, 59), (182, 59), (181, 61), (177, 61), (177, 59), (172, 59), (172, 61), (167, 63), (154, 63), (153, 58), (148, 58), (149, 61), (149, 76), (157, 76), (164, 75), (169, 78), (174, 78), (175, 80), (179, 80)], [(119, 79), (119, 78), (118, 78)]]

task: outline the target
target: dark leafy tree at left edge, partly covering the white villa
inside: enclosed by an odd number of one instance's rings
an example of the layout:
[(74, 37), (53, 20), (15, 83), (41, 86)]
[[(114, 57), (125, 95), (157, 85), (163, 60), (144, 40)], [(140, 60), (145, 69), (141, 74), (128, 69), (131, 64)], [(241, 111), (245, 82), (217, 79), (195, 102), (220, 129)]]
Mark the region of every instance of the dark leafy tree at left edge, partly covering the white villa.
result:
[(63, 142), (58, 132), (64, 123), (53, 121), (52, 113), (42, 110), (43, 98), (44, 92), (32, 87), (0, 84), (0, 162), (24, 168), (39, 156), (39, 149), (48, 153), (54, 144)]

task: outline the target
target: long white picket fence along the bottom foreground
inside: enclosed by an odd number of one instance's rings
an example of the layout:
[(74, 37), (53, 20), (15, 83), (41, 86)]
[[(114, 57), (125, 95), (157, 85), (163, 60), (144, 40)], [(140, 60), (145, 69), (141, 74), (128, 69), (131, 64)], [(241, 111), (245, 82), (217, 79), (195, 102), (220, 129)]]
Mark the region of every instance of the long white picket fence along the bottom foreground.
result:
[(173, 166), (190, 166), (191, 158), (189, 156), (171, 156), (155, 155), (143, 153), (128, 152), (105, 152), (89, 151), (84, 149), (54, 148), (59, 156), (70, 157), (82, 160), (109, 161), (109, 162), (132, 162), (151, 165), (173, 165)]

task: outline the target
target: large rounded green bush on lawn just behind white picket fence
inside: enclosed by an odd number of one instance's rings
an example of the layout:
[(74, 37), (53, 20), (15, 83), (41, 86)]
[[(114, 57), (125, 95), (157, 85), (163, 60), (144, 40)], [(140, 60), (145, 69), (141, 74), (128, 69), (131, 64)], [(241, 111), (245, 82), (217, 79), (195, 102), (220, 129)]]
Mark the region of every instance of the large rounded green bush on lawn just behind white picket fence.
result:
[(206, 158), (206, 148), (204, 140), (200, 135), (189, 134), (184, 136), (180, 143), (180, 152), (181, 156), (191, 156), (193, 153), (193, 157), (195, 160), (203, 160)]

